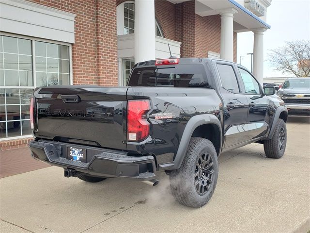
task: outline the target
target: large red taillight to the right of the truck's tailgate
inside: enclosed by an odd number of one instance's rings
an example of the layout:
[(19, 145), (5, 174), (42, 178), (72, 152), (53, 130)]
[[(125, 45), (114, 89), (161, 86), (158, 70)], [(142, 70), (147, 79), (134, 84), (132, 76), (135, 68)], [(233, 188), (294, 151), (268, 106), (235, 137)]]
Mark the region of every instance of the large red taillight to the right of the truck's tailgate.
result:
[(142, 141), (150, 134), (150, 123), (146, 119), (151, 109), (149, 100), (128, 100), (127, 104), (127, 140)]

